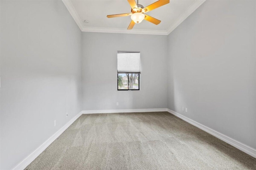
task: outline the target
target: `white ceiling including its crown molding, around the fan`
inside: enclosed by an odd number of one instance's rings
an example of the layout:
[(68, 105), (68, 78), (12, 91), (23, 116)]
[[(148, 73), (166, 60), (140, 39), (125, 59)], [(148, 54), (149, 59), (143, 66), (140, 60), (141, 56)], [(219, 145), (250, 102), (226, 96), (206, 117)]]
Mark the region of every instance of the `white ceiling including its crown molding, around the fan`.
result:
[[(170, 0), (169, 4), (147, 13), (162, 22), (154, 25), (146, 20), (127, 30), (130, 16), (107, 18), (107, 15), (130, 13), (127, 0), (62, 0), (81, 31), (110, 33), (140, 33), (168, 35), (205, 0)], [(137, 0), (136, 0), (137, 1)], [(144, 7), (157, 0), (139, 0)], [(90, 21), (85, 23), (84, 20)]]

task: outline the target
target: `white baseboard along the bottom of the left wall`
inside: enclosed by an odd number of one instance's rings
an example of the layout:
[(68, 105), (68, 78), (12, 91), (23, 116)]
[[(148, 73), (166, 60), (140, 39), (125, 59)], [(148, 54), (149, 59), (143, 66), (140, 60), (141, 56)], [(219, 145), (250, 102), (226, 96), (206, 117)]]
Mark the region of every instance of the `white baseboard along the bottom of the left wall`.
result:
[(28, 155), (24, 160), (17, 164), (12, 170), (23, 170), (26, 168), (39, 154), (41, 154), (55, 139), (57, 139), (78, 117), (82, 115), (82, 111), (73, 117), (68, 123), (66, 123), (62, 128), (60, 128), (54, 135), (52, 135), (47, 141), (45, 141), (40, 147), (38, 147), (34, 152)]

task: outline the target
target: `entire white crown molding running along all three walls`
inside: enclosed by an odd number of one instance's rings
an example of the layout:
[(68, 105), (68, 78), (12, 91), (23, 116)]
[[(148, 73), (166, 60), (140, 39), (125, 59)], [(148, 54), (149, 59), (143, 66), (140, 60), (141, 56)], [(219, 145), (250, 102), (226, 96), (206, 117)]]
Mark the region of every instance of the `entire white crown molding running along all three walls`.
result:
[(104, 28), (104, 27), (85, 27), (78, 16), (70, 0), (62, 0), (70, 15), (74, 18), (76, 24), (83, 32), (100, 32), (100, 33), (130, 33), (130, 34), (150, 34), (150, 35), (169, 35), (180, 23), (182, 23), (190, 14), (192, 14), (206, 0), (196, 0), (180, 17), (170, 25), (167, 30), (148, 30), (148, 29), (122, 29), (122, 28)]

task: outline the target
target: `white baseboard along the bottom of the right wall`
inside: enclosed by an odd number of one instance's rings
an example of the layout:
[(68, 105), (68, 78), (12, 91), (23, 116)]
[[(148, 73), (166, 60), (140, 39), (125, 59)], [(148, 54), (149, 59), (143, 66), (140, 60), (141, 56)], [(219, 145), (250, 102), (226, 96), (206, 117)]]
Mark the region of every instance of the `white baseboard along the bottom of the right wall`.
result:
[(236, 141), (236, 140), (234, 140), (234, 139), (232, 139), (232, 138), (230, 138), (230, 137), (228, 137), (228, 136), (226, 136), (222, 133), (219, 133), (219, 132), (217, 132), (217, 131), (215, 131), (215, 130), (213, 130), (213, 129), (205, 126), (205, 125), (202, 125), (201, 123), (198, 123), (198, 122), (196, 122), (196, 121), (194, 121), (194, 120), (192, 120), (192, 119), (190, 119), (190, 118), (188, 118), (184, 115), (181, 115), (180, 113), (177, 113), (177, 112), (172, 111), (170, 109), (167, 109), (167, 111), (169, 113), (172, 113), (173, 115), (179, 117), (180, 119), (198, 127), (199, 129), (202, 129), (203, 131), (206, 131), (207, 133), (210, 133), (211, 135), (213, 135), (213, 136), (217, 137), (218, 139), (232, 145), (233, 147), (236, 147), (237, 149), (242, 150), (243, 152), (249, 154), (250, 156), (253, 156), (254, 158), (256, 158), (256, 150), (255, 149), (253, 149), (253, 148), (251, 148), (251, 147), (249, 147), (249, 146), (247, 146), (243, 143), (240, 143), (240, 142), (238, 142), (238, 141)]

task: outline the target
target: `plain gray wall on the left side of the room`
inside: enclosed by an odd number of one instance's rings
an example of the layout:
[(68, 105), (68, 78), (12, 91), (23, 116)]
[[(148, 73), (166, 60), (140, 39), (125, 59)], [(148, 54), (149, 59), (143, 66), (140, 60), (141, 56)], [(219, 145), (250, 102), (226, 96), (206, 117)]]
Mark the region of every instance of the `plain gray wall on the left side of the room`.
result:
[(0, 3), (0, 169), (9, 170), (82, 110), (82, 39), (60, 0)]

